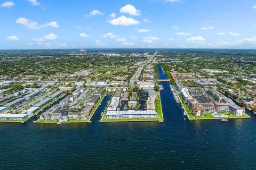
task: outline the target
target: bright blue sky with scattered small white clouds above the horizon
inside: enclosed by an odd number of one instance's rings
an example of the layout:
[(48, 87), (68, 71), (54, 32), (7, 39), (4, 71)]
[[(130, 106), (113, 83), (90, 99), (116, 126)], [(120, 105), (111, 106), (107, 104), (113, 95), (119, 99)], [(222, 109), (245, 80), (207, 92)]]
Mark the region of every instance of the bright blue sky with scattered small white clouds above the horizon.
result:
[(256, 48), (251, 0), (0, 0), (0, 49)]

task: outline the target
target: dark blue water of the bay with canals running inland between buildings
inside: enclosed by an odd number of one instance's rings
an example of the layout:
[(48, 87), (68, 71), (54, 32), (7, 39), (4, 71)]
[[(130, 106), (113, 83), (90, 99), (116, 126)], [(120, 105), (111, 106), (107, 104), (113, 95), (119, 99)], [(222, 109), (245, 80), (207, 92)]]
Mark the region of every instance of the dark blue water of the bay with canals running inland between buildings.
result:
[[(161, 67), (159, 78), (164, 79)], [(255, 169), (255, 117), (184, 120), (162, 83), (164, 123), (0, 124), (0, 169)]]

